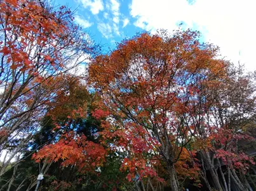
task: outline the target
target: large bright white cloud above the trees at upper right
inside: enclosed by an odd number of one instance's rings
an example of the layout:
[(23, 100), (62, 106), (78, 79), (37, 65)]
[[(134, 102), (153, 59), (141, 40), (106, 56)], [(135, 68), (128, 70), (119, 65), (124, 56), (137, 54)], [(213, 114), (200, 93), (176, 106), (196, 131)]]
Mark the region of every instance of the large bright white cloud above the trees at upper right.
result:
[(189, 28), (196, 26), (206, 41), (220, 47), (222, 56), (255, 70), (254, 8), (250, 0), (196, 0), (192, 5), (187, 0), (133, 0), (130, 14), (137, 19), (134, 25), (145, 30), (173, 30), (180, 22)]

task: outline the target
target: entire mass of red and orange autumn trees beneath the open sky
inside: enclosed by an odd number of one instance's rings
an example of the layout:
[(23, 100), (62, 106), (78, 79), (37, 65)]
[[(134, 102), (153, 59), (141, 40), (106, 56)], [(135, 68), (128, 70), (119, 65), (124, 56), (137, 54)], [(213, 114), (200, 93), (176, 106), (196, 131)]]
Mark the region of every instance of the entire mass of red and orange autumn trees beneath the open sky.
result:
[(65, 6), (4, 0), (0, 18), (3, 189), (256, 189), (255, 74), (199, 32), (98, 54)]

